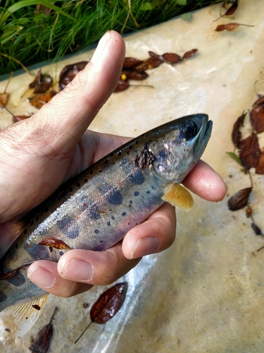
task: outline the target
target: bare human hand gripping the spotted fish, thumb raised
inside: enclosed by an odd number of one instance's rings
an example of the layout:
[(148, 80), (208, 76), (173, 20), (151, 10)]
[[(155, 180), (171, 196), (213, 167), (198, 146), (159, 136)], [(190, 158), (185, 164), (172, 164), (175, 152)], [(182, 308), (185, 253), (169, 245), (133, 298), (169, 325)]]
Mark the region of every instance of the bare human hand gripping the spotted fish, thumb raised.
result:
[[(30, 119), (0, 132), (0, 256), (16, 235), (13, 220), (44, 201), (63, 181), (80, 173), (129, 138), (88, 131), (117, 84), (125, 44), (106, 32), (89, 64), (62, 92)], [(185, 186), (208, 201), (220, 201), (227, 188), (208, 164), (199, 161)], [(125, 275), (142, 256), (167, 249), (175, 240), (175, 209), (165, 203), (107, 251), (72, 250), (58, 263), (37, 261), (27, 275), (47, 292), (71, 297), (93, 285)]]

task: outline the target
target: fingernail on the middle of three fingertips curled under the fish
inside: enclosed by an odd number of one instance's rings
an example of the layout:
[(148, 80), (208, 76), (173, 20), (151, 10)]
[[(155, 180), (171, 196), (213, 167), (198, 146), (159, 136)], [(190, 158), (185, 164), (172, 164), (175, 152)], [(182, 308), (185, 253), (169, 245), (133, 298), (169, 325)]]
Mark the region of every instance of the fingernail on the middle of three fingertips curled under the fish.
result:
[(77, 282), (88, 282), (94, 278), (94, 268), (86, 261), (73, 258), (63, 266), (61, 277)]

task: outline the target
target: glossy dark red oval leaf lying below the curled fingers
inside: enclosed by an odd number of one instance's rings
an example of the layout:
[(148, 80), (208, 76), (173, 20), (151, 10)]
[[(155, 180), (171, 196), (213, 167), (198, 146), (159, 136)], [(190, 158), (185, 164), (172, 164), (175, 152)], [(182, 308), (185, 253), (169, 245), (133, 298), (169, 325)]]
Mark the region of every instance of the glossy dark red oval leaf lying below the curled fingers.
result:
[(91, 308), (90, 316), (94, 323), (106, 323), (118, 312), (125, 299), (127, 282), (118, 283), (103, 292)]

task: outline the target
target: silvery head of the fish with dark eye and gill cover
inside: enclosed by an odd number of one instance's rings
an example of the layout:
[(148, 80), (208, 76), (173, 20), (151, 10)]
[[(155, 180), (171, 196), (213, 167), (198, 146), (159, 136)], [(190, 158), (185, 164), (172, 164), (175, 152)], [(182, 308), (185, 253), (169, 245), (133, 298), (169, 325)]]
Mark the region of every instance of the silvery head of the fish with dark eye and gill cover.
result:
[(206, 114), (194, 114), (165, 124), (151, 146), (153, 169), (168, 183), (181, 183), (206, 148), (213, 123)]

